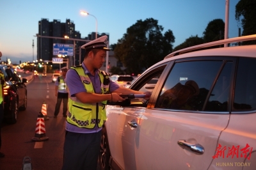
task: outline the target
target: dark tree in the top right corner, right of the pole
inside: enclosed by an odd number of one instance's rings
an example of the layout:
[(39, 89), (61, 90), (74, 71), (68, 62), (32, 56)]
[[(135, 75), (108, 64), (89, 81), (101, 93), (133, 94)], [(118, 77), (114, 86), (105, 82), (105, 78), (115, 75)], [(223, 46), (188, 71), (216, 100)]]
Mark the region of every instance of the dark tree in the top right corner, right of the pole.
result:
[[(256, 34), (256, 0), (240, 0), (236, 4), (236, 20), (243, 27), (242, 35)], [(243, 42), (243, 44), (256, 44), (256, 41)]]

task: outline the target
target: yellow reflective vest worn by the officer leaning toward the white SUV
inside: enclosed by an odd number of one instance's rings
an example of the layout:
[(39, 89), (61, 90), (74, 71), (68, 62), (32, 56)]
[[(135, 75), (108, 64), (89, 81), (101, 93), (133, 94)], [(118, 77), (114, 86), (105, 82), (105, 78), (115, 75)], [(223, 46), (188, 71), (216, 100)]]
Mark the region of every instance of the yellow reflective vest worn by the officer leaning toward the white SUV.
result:
[[(87, 93), (95, 93), (92, 81), (90, 80), (90, 77), (84, 73), (83, 67), (81, 65), (72, 66), (70, 69), (76, 70), (84, 84), (84, 88), (86, 89)], [(102, 94), (107, 94), (109, 91), (109, 83), (108, 85), (104, 85), (103, 82), (104, 77), (108, 78), (108, 75), (103, 75), (102, 72), (99, 72), (99, 77)], [(98, 102), (95, 104), (83, 104), (76, 97), (69, 97), (69, 112), (67, 121), (72, 125), (76, 125), (77, 127), (82, 128), (94, 128), (96, 124), (98, 127), (102, 127), (107, 117), (105, 109), (106, 104), (107, 101)]]

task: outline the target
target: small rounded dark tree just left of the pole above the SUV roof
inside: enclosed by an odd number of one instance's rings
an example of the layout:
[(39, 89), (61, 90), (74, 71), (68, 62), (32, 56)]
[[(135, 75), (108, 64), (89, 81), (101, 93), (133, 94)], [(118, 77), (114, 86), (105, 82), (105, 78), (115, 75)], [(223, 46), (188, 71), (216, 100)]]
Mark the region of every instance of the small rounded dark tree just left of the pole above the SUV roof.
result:
[(204, 42), (214, 42), (224, 39), (225, 23), (222, 19), (214, 19), (205, 28), (203, 33)]

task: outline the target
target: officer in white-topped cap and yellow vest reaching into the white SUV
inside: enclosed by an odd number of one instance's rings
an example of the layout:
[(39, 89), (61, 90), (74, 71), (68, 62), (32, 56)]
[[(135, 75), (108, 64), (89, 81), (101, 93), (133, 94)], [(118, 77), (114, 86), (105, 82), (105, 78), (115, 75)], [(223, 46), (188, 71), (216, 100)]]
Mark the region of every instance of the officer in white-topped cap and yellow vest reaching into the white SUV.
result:
[(125, 100), (120, 95), (143, 94), (142, 91), (119, 87), (100, 71), (106, 58), (106, 40), (101, 36), (81, 48), (83, 63), (67, 72), (69, 89), (68, 117), (63, 151), (63, 170), (97, 169), (102, 125), (106, 121), (107, 100)]

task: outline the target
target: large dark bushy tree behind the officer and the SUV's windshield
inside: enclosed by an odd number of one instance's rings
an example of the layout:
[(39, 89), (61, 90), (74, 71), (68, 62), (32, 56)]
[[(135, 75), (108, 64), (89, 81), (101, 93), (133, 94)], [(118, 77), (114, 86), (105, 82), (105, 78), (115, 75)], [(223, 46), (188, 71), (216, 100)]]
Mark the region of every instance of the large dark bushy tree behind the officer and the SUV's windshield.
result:
[(137, 20), (118, 40), (115, 56), (127, 68), (127, 73), (141, 73), (172, 52), (175, 40), (170, 29), (162, 35), (163, 27), (152, 18)]

